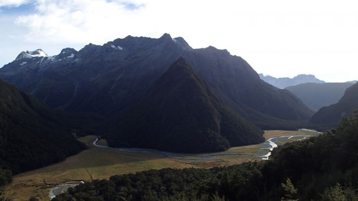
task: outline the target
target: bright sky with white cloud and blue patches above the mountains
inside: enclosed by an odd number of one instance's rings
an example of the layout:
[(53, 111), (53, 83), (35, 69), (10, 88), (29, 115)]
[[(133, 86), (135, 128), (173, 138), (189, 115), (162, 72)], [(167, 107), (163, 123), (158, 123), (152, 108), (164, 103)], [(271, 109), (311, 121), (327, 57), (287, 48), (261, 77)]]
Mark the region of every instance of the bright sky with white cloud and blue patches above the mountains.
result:
[(164, 33), (214, 46), (274, 77), (358, 80), (358, 1), (0, 0), (0, 67), (21, 51)]

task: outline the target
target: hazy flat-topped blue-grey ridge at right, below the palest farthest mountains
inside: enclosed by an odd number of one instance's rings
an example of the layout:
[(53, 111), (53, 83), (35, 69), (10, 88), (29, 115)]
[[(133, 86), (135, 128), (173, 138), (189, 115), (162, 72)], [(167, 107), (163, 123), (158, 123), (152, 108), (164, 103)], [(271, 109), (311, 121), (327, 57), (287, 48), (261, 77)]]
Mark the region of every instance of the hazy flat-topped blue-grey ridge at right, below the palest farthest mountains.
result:
[(304, 83), (288, 86), (285, 89), (295, 94), (309, 108), (317, 111), (323, 106), (337, 103), (344, 91), (353, 83)]

